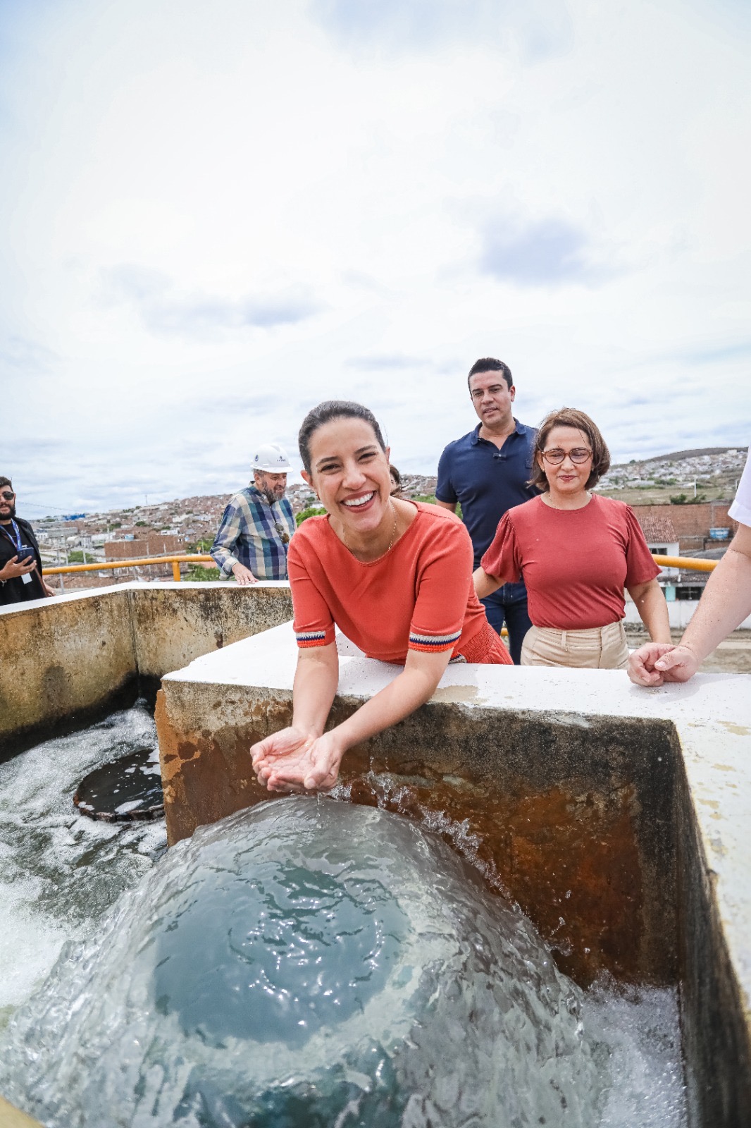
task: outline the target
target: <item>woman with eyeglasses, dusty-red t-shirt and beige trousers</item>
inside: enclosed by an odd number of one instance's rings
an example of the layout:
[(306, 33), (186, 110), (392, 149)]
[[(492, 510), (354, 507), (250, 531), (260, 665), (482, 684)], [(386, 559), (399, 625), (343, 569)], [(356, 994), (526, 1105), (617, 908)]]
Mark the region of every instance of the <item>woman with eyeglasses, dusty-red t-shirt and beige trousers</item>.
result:
[(563, 407), (540, 424), (531, 483), (539, 497), (504, 513), (475, 572), (480, 599), (523, 578), (532, 627), (522, 666), (622, 670), (624, 588), (653, 642), (670, 642), (668, 605), (630, 505), (592, 493), (610, 467), (599, 429)]

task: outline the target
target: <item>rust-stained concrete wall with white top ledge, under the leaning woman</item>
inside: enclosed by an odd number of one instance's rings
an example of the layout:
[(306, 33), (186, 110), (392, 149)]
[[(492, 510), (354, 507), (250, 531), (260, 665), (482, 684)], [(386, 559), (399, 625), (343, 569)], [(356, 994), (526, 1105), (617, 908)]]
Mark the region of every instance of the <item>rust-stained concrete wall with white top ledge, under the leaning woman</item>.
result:
[[(170, 841), (268, 797), (248, 752), (289, 723), (294, 666), (281, 627), (165, 677)], [(341, 647), (332, 720), (397, 672)], [(751, 1123), (751, 677), (450, 667), (342, 779), (449, 837), (580, 982), (678, 982), (692, 1128)]]

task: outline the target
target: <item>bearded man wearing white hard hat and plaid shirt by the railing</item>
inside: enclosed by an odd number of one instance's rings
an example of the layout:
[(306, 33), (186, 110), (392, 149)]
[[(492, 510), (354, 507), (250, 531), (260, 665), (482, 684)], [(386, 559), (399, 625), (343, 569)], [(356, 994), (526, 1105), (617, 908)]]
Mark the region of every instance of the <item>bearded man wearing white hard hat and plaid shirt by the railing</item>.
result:
[(286, 580), (286, 547), (294, 532), (292, 506), (284, 496), (286, 453), (276, 442), (253, 458), (253, 482), (235, 494), (211, 546), (222, 579), (245, 587), (258, 580)]

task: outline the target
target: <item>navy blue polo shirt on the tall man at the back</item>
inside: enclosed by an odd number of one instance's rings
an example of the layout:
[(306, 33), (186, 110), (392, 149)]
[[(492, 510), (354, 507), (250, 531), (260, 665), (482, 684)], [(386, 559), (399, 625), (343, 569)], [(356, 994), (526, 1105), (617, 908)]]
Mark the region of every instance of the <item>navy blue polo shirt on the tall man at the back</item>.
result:
[(516, 430), (501, 450), (494, 442), (480, 439), (481, 423), (478, 423), (469, 434), (450, 442), (439, 461), (435, 496), (438, 501), (460, 503), (475, 549), (475, 567), (479, 566), (506, 510), (539, 494), (539, 490), (527, 485), (537, 431), (518, 420), (514, 423)]

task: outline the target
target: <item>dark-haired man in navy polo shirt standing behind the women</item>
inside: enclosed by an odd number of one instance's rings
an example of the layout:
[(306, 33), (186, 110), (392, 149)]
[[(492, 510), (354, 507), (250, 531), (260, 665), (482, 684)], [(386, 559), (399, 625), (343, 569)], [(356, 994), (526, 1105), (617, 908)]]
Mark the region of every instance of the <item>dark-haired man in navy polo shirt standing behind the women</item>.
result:
[[(468, 384), (479, 423), (469, 434), (450, 442), (441, 455), (435, 500), (452, 513), (460, 503), (478, 567), (506, 510), (538, 494), (528, 485), (537, 432), (518, 423), (511, 413), (516, 389), (511, 369), (503, 361), (491, 356), (476, 361)], [(519, 666), (522, 642), (531, 626), (527, 588), (523, 583), (503, 584), (483, 605), (488, 623), (498, 634), (505, 620), (511, 656)]]

